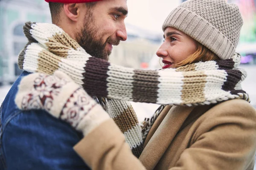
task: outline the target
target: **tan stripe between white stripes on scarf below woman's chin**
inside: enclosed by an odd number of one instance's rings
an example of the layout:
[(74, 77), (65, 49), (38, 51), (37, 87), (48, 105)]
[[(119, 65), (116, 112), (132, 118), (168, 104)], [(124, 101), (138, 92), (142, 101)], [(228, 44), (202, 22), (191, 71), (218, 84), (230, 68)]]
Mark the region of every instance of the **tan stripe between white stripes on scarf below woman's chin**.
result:
[[(207, 75), (204, 71), (183, 72), (183, 86), (181, 90), (181, 99), (184, 104), (204, 102), (204, 87), (207, 82)], [(191, 93), (190, 89), (194, 89)]]

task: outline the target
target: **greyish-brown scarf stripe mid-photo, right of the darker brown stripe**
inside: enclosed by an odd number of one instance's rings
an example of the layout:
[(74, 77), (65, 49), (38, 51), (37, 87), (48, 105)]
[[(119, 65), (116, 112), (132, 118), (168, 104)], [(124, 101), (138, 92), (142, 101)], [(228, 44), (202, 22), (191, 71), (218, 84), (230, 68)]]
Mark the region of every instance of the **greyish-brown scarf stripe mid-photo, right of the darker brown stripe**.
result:
[(147, 96), (146, 101), (143, 100), (143, 102), (156, 103), (159, 77), (156, 71), (134, 70), (134, 82), (132, 83), (134, 102), (140, 102), (141, 96)]

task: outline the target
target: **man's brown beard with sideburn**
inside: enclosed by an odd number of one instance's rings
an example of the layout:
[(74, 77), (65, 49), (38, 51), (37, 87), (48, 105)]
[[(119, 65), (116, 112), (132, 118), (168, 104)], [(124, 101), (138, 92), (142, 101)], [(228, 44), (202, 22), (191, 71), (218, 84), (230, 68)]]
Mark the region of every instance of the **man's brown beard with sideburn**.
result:
[[(93, 57), (105, 59), (108, 61), (111, 51), (105, 49), (107, 43), (112, 45), (118, 45), (120, 40), (108, 37), (104, 42), (100, 35), (97, 35), (99, 28), (95, 26), (95, 22), (92, 16), (92, 13), (88, 11), (85, 19), (84, 26), (81, 28), (81, 31), (77, 33), (76, 40), (79, 45), (84, 48), (84, 50)], [(98, 39), (97, 39), (98, 37)]]

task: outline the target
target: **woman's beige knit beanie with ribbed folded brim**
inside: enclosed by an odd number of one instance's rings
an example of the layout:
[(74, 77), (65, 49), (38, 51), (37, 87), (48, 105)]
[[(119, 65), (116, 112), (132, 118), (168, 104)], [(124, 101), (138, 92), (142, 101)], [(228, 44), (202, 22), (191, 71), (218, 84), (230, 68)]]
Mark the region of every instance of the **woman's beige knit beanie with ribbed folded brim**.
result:
[(194, 38), (221, 59), (235, 53), (243, 20), (238, 6), (225, 0), (188, 0), (163, 23)]

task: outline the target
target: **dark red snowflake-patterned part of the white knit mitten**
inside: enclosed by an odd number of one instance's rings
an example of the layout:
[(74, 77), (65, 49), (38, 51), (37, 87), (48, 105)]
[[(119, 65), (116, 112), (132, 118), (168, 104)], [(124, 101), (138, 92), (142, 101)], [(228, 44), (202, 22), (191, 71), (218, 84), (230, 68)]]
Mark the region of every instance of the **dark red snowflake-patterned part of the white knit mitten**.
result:
[[(24, 79), (28, 80), (32, 75)], [(79, 85), (57, 76), (38, 74), (32, 81), (32, 89), (24, 87), (22, 110), (43, 109), (74, 128), (97, 104)]]

